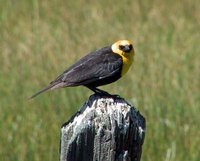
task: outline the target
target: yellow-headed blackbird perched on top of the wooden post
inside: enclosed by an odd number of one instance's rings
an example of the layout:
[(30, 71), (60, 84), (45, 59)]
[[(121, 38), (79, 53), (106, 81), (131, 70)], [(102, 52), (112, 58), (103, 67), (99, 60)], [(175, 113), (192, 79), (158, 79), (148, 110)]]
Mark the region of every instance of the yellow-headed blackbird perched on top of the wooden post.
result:
[(106, 93), (96, 87), (112, 83), (122, 77), (131, 66), (134, 54), (131, 41), (119, 40), (111, 46), (106, 46), (81, 58), (31, 98), (48, 89), (80, 85), (95, 93)]

